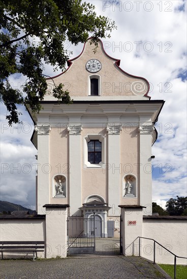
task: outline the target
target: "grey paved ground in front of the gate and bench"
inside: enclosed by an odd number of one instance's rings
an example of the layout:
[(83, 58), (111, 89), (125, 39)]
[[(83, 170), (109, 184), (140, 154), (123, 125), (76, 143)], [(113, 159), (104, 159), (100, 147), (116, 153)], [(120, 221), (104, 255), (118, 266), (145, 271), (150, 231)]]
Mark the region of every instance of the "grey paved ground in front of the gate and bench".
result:
[(1, 279), (145, 279), (166, 278), (139, 257), (80, 256), (64, 259), (1, 260)]

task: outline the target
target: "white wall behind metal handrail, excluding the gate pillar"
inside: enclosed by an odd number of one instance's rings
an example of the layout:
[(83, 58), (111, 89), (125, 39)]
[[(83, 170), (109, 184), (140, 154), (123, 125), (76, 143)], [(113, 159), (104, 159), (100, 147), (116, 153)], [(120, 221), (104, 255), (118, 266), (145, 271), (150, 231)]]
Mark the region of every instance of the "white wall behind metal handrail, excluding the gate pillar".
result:
[[(153, 238), (180, 257), (187, 255), (187, 222), (186, 220), (143, 220), (143, 237)], [(141, 256), (153, 260), (153, 241), (141, 241)], [(174, 256), (155, 245), (157, 263), (174, 264)], [(177, 258), (177, 264), (187, 264), (187, 259)]]

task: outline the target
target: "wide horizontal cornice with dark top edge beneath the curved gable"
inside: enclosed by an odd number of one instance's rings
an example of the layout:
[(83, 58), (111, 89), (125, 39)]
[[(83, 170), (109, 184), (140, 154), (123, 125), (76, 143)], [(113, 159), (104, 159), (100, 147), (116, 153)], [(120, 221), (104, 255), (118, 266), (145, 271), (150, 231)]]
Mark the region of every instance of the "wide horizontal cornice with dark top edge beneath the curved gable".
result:
[(155, 122), (158, 119), (164, 101), (75, 101), (70, 106), (64, 103), (56, 106), (56, 102), (43, 101), (41, 104), (43, 110), (38, 115), (38, 121), (41, 119), (40, 122), (43, 121), (43, 117), (50, 119), (51, 117), (108, 117), (114, 115), (119, 117), (149, 116), (151, 121)]

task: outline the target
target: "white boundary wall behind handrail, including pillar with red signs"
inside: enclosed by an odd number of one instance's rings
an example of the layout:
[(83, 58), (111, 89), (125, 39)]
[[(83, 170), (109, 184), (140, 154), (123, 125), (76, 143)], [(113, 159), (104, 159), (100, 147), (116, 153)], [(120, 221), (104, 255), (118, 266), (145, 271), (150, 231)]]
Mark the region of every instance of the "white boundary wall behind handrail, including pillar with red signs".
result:
[[(139, 238), (152, 238), (176, 256), (187, 255), (187, 216), (143, 216), (143, 206), (120, 205), (121, 248), (125, 256), (139, 256)], [(140, 240), (140, 256), (153, 261), (154, 241)], [(155, 243), (155, 262), (174, 264), (174, 256)], [(177, 258), (187, 265), (187, 259)]]

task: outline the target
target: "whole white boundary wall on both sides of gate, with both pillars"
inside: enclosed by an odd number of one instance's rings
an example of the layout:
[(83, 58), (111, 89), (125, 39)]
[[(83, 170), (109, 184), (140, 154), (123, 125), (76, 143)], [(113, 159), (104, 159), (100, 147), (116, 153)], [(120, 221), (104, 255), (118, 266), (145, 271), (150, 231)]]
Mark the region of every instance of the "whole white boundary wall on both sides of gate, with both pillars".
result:
[[(45, 215), (0, 216), (0, 240), (32, 241), (44, 240), (45, 253), (42, 258), (67, 256), (68, 204), (45, 204)], [(139, 256), (138, 236), (152, 238), (179, 257), (187, 255), (187, 216), (143, 216), (143, 206), (120, 205), (121, 242), (120, 250), (125, 256)], [(141, 239), (140, 255), (153, 261), (153, 241)], [(157, 263), (174, 264), (174, 256), (157, 243)], [(6, 254), (5, 254), (6, 256)], [(20, 255), (18, 255), (20, 257)], [(17, 257), (18, 257), (17, 256)], [(25, 257), (25, 255), (23, 255)], [(14, 257), (11, 255), (11, 257)], [(177, 264), (187, 264), (186, 259), (177, 258)]]

